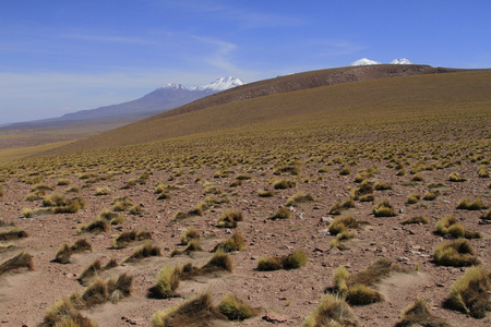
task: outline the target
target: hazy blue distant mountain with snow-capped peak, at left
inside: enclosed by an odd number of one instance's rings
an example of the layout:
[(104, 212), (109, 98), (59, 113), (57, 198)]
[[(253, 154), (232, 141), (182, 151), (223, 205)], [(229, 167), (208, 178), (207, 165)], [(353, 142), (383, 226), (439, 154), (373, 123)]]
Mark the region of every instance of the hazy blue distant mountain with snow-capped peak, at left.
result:
[(181, 84), (167, 84), (132, 101), (81, 110), (58, 118), (13, 123), (1, 129), (70, 126), (81, 123), (113, 121), (129, 123), (243, 84), (241, 80), (232, 76), (219, 77), (204, 86), (193, 86), (190, 88)]

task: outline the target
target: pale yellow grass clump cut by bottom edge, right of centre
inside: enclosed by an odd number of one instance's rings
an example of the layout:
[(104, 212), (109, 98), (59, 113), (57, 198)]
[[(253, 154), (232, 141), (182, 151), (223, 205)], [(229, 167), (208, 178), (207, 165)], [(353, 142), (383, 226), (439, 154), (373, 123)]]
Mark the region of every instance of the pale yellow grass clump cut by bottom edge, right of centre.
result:
[(315, 311), (306, 318), (304, 327), (360, 326), (351, 307), (340, 296), (325, 294)]

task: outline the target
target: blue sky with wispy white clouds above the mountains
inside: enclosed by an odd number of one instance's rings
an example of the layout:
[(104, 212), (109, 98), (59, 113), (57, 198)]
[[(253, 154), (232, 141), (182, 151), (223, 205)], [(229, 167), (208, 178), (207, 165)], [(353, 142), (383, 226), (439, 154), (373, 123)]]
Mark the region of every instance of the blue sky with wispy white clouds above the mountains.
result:
[(0, 0), (0, 124), (363, 57), (491, 68), (490, 17), (489, 0)]

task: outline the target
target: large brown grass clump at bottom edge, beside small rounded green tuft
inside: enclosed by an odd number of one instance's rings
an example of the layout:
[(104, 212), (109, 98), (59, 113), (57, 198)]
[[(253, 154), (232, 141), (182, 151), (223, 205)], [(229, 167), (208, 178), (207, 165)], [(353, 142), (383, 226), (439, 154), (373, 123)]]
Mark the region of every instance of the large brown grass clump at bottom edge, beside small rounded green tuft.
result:
[(226, 320), (227, 318), (213, 306), (212, 295), (208, 292), (196, 295), (194, 299), (181, 303), (177, 307), (167, 311), (157, 311), (152, 316), (154, 327), (185, 327), (185, 326), (212, 326), (213, 320)]

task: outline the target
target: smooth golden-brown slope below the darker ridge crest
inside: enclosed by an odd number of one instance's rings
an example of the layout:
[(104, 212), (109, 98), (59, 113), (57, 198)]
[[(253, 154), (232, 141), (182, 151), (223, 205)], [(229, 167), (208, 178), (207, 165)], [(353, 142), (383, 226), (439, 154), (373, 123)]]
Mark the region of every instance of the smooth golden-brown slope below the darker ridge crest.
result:
[(411, 116), (491, 114), (491, 71), (381, 78), (235, 101), (143, 120), (49, 152), (71, 153), (262, 125), (350, 123)]

